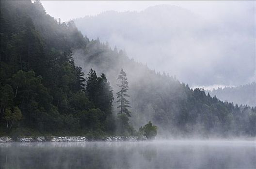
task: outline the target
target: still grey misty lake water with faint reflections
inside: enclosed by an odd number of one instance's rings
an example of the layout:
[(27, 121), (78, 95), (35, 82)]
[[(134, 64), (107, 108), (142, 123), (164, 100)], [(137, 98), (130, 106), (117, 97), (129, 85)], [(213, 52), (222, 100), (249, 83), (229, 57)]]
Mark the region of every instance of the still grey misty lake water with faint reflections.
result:
[(256, 169), (255, 141), (1, 143), (1, 169)]

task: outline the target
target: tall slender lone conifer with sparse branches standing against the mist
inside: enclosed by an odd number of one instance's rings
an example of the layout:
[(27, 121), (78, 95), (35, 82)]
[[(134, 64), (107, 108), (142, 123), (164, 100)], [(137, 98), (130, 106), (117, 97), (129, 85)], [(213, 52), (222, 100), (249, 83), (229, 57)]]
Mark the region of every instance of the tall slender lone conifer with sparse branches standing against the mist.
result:
[(117, 78), (120, 82), (120, 84), (117, 84), (121, 90), (119, 92), (117, 92), (117, 102), (120, 104), (119, 106), (117, 106), (117, 108), (120, 108), (120, 112), (119, 114), (126, 114), (128, 117), (130, 117), (130, 112), (128, 111), (128, 104), (130, 103), (125, 97), (129, 97), (128, 94), (126, 94), (126, 92), (128, 91), (128, 81), (127, 81), (127, 77), (126, 77), (126, 72), (121, 69), (120, 71), (120, 75)]

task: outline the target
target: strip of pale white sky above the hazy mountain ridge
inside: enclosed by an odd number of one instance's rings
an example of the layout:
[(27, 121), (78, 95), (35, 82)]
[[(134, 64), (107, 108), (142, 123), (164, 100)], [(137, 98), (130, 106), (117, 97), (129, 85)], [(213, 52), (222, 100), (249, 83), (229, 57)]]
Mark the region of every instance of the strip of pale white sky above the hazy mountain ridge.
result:
[[(48, 14), (55, 18), (61, 18), (63, 21), (86, 15), (97, 15), (110, 10), (139, 12), (159, 4), (176, 5), (214, 19), (225, 15), (227, 8), (236, 10), (238, 15), (246, 10), (246, 8), (241, 8), (239, 3), (203, 0), (42, 0), (41, 3)], [(255, 2), (251, 2), (249, 5), (255, 6)]]

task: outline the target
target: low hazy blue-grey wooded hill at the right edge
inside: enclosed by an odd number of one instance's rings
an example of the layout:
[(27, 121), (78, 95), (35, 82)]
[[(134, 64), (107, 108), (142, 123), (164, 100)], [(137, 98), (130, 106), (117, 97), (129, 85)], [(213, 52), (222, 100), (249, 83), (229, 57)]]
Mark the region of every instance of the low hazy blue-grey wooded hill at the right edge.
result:
[(207, 91), (211, 96), (216, 95), (220, 100), (227, 100), (234, 104), (256, 106), (256, 83), (240, 85), (238, 87), (219, 87)]

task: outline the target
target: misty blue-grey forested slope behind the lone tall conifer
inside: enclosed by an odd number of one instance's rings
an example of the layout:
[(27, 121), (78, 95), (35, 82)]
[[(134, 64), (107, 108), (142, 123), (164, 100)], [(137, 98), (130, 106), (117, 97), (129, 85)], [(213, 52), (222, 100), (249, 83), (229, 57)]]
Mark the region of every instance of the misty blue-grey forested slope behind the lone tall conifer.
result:
[[(238, 106), (212, 97), (204, 89), (191, 89), (176, 77), (149, 70), (129, 59), (126, 53), (99, 40), (74, 52), (75, 62), (83, 68), (110, 74), (111, 84), (121, 68), (129, 79), (131, 123), (135, 128), (152, 121), (160, 135), (241, 136), (255, 135), (256, 109)], [(114, 93), (118, 91), (113, 86)], [(115, 104), (115, 102), (113, 102)], [(115, 108), (116, 106), (114, 106)], [(119, 110), (115, 110), (117, 113)]]

